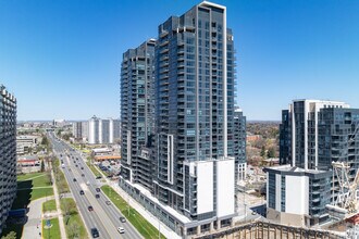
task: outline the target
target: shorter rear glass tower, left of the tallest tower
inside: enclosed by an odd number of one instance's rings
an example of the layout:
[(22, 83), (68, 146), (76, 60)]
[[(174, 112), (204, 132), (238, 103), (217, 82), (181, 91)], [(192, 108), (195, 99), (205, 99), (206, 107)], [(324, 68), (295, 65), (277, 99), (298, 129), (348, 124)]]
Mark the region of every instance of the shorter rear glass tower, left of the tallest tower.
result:
[(121, 175), (149, 190), (152, 189), (152, 162), (150, 154), (141, 150), (151, 144), (153, 135), (154, 45), (150, 39), (127, 50), (121, 65)]

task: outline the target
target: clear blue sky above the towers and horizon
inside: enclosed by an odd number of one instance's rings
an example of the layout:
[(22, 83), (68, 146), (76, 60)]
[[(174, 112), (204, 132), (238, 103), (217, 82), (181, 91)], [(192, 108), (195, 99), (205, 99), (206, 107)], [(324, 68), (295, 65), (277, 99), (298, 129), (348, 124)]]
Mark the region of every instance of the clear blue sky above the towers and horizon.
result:
[[(17, 118), (119, 116), (122, 53), (199, 2), (0, 0), (0, 83)], [(301, 98), (359, 108), (359, 1), (215, 2), (227, 7), (248, 120), (280, 120)]]

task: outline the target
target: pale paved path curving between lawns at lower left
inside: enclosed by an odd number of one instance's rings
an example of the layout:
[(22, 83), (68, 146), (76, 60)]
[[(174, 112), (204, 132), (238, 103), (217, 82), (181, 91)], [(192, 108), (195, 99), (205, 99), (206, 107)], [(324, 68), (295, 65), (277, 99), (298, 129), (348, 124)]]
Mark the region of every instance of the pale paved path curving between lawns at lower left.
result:
[(32, 201), (27, 207), (27, 222), (24, 225), (23, 239), (39, 239), (39, 232), (41, 232), (41, 214), (42, 203), (47, 200), (53, 199), (53, 197), (40, 198)]

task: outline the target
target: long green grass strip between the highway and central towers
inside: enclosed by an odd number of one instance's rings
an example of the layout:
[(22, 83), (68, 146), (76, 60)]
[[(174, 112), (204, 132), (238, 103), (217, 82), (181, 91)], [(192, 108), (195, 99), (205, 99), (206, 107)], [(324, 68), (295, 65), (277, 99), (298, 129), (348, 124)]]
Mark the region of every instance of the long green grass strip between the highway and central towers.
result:
[[(102, 191), (110, 198), (113, 204), (117, 206), (121, 213), (131, 222), (132, 225), (145, 238), (159, 238), (159, 231), (145, 217), (143, 217), (135, 209), (128, 206), (127, 202), (119, 196), (110, 186), (101, 187)], [(165, 238), (161, 235), (161, 238)]]

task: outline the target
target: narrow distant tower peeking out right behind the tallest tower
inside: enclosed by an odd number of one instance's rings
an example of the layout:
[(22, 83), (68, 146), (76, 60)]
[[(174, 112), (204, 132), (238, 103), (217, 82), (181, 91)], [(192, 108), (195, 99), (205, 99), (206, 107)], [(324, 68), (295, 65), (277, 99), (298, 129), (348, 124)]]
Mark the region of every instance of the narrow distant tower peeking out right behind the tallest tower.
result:
[(246, 179), (246, 116), (240, 109), (234, 112), (234, 154), (235, 154), (235, 176), (236, 181)]

